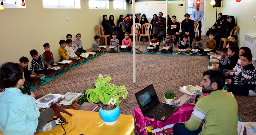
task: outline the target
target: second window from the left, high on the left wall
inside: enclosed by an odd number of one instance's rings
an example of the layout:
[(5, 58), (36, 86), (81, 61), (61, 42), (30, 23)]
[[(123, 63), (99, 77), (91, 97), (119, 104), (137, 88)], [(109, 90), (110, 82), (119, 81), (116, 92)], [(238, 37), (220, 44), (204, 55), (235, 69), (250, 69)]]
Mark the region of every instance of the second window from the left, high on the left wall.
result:
[(43, 0), (44, 8), (81, 8), (80, 0)]

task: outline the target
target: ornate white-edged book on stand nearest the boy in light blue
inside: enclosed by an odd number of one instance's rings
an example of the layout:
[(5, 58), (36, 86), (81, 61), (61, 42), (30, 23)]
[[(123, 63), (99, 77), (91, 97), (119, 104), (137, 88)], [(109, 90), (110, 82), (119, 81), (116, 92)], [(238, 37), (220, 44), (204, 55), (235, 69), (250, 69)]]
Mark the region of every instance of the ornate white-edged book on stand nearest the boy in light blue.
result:
[(64, 95), (50, 93), (36, 100), (36, 104), (38, 105), (38, 107), (46, 108), (46, 107), (50, 107), (54, 103), (57, 103), (63, 98), (64, 98)]

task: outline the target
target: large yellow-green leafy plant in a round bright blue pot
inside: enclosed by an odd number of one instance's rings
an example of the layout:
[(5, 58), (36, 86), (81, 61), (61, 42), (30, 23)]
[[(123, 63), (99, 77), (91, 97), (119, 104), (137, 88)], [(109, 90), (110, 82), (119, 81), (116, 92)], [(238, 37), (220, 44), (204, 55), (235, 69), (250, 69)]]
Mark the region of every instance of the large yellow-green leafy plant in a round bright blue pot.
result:
[[(106, 76), (106, 75), (105, 75)], [(115, 86), (109, 83), (111, 77), (106, 76), (104, 78), (101, 74), (94, 81), (94, 89), (88, 89), (85, 92), (88, 102), (92, 103), (103, 103), (99, 109), (99, 115), (102, 121), (106, 125), (113, 125), (118, 121), (120, 115), (120, 103), (119, 97), (126, 99), (128, 94), (127, 89), (124, 85)]]

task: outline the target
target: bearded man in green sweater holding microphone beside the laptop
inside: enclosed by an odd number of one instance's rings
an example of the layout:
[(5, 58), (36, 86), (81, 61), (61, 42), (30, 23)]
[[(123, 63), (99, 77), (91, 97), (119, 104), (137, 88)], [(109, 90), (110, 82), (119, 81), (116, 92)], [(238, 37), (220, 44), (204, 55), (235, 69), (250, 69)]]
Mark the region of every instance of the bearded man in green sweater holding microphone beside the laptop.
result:
[[(203, 73), (202, 92), (208, 96), (198, 99), (188, 121), (173, 126), (173, 133), (179, 134), (237, 134), (237, 101), (224, 92), (225, 76), (218, 70)], [(204, 125), (199, 128), (202, 120)]]

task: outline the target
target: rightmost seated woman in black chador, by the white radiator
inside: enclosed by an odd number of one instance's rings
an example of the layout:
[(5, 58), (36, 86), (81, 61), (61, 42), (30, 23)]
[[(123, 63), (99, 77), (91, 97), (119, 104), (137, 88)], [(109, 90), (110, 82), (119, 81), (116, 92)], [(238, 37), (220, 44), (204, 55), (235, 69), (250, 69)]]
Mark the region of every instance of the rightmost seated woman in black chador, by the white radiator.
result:
[(229, 16), (229, 19), (227, 19), (227, 16), (226, 18), (224, 18), (225, 16), (226, 15), (223, 15), (221, 17), (221, 19), (224, 20), (225, 22), (222, 22), (221, 26), (218, 26), (220, 30), (214, 37), (214, 40), (216, 41), (216, 48), (219, 48), (220, 39), (228, 37), (231, 30), (237, 26), (235, 23), (234, 16)]

